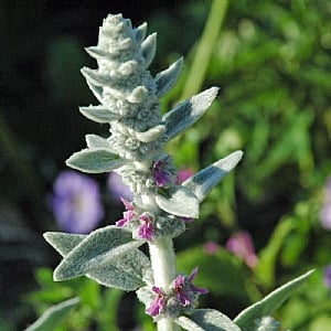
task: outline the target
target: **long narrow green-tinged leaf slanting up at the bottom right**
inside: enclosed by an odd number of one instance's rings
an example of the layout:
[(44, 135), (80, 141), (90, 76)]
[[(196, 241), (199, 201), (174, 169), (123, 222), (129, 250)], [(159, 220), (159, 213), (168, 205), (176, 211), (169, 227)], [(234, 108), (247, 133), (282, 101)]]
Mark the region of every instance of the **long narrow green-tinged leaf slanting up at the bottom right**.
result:
[(303, 285), (312, 273), (313, 270), (310, 270), (282, 285), (260, 301), (249, 306), (234, 319), (234, 322), (242, 328), (248, 328), (249, 325), (254, 325), (254, 320), (271, 314), (293, 291)]

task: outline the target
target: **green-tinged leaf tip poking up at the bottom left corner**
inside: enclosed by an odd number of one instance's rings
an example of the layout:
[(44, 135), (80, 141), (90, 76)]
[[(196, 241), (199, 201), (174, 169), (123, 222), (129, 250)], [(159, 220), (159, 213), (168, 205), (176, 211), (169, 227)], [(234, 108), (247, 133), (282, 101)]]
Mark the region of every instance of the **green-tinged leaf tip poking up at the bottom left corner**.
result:
[(52, 331), (68, 316), (71, 310), (79, 302), (78, 298), (63, 301), (50, 307), (32, 325), (25, 331)]

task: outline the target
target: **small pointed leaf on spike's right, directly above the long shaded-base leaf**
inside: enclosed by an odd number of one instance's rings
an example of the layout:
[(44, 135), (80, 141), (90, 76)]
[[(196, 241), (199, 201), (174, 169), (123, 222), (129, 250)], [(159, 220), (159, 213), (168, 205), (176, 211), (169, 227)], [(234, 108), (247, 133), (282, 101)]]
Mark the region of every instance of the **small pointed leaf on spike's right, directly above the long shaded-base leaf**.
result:
[(183, 57), (172, 63), (166, 71), (157, 74), (154, 82), (157, 85), (157, 97), (161, 97), (175, 84), (178, 76), (182, 70)]

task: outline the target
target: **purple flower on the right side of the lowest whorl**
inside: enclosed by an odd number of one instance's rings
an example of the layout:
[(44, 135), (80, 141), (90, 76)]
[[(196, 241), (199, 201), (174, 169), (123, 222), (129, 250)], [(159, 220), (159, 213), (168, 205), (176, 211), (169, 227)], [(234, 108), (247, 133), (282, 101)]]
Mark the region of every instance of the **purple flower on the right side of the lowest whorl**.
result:
[(173, 292), (177, 300), (184, 307), (191, 306), (196, 296), (209, 292), (206, 288), (199, 288), (192, 284), (197, 274), (197, 267), (193, 269), (189, 277), (178, 275), (173, 284)]

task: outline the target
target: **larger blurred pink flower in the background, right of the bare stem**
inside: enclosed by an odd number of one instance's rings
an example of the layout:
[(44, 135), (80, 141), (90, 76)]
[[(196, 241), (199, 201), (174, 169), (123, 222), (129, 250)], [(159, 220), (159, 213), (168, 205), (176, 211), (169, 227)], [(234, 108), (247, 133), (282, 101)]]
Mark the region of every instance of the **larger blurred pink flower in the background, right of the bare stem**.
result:
[(241, 231), (235, 233), (225, 244), (225, 247), (237, 257), (244, 259), (245, 264), (254, 268), (258, 264), (258, 258), (254, 252), (254, 245), (250, 235)]

